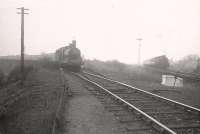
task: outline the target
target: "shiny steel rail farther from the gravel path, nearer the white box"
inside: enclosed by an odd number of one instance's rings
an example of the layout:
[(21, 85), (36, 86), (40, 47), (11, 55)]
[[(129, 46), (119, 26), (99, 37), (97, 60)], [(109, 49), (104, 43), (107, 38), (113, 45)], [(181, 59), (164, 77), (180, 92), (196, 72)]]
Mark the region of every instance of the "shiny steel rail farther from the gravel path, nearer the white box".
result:
[(119, 81), (116, 81), (116, 80), (112, 80), (112, 79), (105, 78), (105, 77), (102, 77), (102, 76), (98, 76), (98, 75), (95, 75), (95, 74), (91, 74), (91, 73), (88, 73), (88, 72), (83, 72), (83, 73), (88, 74), (88, 75), (91, 75), (91, 76), (95, 76), (95, 77), (97, 77), (97, 78), (102, 78), (102, 79), (104, 79), (104, 80), (108, 80), (108, 81), (111, 81), (111, 82), (115, 82), (115, 83), (121, 84), (121, 85), (123, 85), (123, 86), (126, 86), (126, 87), (128, 87), (128, 88), (135, 89), (135, 90), (137, 90), (137, 91), (143, 92), (143, 93), (148, 94), (148, 95), (150, 95), (150, 96), (163, 99), (163, 100), (165, 100), (165, 101), (168, 101), (168, 102), (174, 103), (174, 104), (176, 104), (176, 105), (182, 106), (182, 107), (186, 108), (186, 110), (189, 109), (189, 110), (192, 110), (192, 111), (194, 111), (194, 112), (198, 112), (198, 114), (200, 115), (200, 109), (195, 108), (195, 107), (192, 107), (192, 106), (189, 106), (189, 105), (187, 105), (187, 104), (183, 104), (183, 103), (181, 103), (181, 102), (177, 102), (177, 101), (174, 101), (174, 100), (165, 98), (165, 97), (163, 97), (163, 96), (159, 96), (159, 95), (157, 95), (157, 94), (153, 94), (153, 93), (151, 93), (151, 92), (142, 90), (142, 89), (137, 88), (137, 87), (133, 87), (133, 86), (127, 85), (127, 84), (125, 84), (125, 83), (122, 83), (122, 82), (119, 82)]

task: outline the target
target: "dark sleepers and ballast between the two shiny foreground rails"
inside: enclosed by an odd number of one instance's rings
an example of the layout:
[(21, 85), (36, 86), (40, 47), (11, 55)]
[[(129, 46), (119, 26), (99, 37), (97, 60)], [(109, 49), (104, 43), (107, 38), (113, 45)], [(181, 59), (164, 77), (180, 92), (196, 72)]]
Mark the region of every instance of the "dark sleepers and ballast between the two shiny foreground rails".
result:
[[(118, 96), (126, 100), (175, 133), (200, 132), (200, 117), (197, 108), (101, 76), (88, 73), (84, 73), (84, 76), (98, 83), (102, 89), (116, 95), (116, 98)], [(122, 89), (123, 91), (120, 91)]]

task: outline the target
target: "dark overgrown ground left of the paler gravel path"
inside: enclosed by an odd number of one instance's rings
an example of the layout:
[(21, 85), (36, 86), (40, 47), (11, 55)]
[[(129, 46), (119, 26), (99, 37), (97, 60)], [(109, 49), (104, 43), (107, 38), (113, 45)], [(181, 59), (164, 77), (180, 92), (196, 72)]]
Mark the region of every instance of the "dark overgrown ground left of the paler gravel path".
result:
[(0, 132), (51, 133), (56, 106), (63, 86), (58, 71), (38, 67), (28, 76), (24, 86), (13, 85), (2, 89)]

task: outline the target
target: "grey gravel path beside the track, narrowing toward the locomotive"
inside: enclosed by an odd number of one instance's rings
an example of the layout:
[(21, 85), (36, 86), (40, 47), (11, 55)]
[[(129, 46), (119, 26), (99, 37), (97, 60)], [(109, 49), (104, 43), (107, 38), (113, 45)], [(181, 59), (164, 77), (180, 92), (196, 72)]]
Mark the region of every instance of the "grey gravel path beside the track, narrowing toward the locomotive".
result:
[(72, 97), (66, 105), (66, 134), (122, 134), (123, 129), (112, 113), (84, 88), (80, 79), (66, 75)]

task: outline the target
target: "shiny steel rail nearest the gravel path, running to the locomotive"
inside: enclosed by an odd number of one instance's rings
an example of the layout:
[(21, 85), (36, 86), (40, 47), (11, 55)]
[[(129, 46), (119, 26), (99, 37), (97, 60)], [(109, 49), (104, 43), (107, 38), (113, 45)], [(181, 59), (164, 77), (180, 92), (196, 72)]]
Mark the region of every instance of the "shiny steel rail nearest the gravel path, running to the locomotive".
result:
[(110, 95), (114, 96), (115, 98), (117, 98), (118, 100), (122, 101), (123, 103), (125, 103), (126, 105), (128, 105), (129, 107), (133, 108), (134, 110), (136, 110), (137, 112), (139, 112), (140, 114), (142, 114), (143, 116), (145, 116), (147, 119), (149, 119), (152, 123), (155, 123), (156, 125), (158, 125), (162, 130), (163, 134), (177, 134), (176, 132), (174, 132), (173, 130), (171, 130), (170, 128), (168, 128), (167, 126), (165, 126), (164, 124), (160, 123), (159, 121), (157, 121), (156, 119), (154, 119), (153, 117), (149, 116), (148, 114), (146, 114), (145, 112), (141, 111), (140, 109), (138, 109), (137, 107), (133, 106), (132, 104), (130, 104), (129, 102), (123, 100), (122, 98), (120, 98), (119, 96), (113, 94), (112, 92), (110, 92), (109, 90), (107, 90), (106, 88), (102, 87), (101, 85), (81, 76), (80, 74), (77, 73), (73, 73), (76, 76), (80, 77), (81, 79), (92, 83), (93, 85), (97, 86), (98, 88), (103, 89), (104, 91), (106, 91), (107, 93), (109, 93)]

